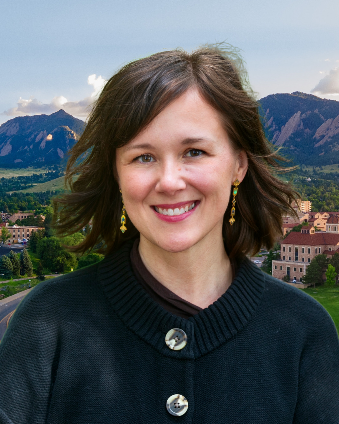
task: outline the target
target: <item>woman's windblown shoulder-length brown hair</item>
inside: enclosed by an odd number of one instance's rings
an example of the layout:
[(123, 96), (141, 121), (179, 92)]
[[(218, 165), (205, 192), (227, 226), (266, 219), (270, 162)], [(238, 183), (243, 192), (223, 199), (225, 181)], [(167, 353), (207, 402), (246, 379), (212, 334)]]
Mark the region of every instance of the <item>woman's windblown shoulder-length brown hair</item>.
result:
[(71, 193), (54, 204), (58, 234), (79, 231), (92, 219), (91, 232), (73, 250), (85, 252), (102, 243), (108, 253), (137, 236), (129, 220), (128, 231), (119, 231), (122, 201), (115, 178), (116, 149), (187, 89), (196, 87), (221, 112), (234, 148), (245, 150), (249, 160), (233, 226), (228, 222), (231, 202), (225, 212), (226, 250), (230, 257), (239, 257), (256, 253), (261, 246), (270, 248), (281, 234), (283, 213), (295, 214), (290, 204), (297, 193), (278, 178), (285, 170), (281, 158), (265, 138), (258, 104), (243, 85), (239, 67), (217, 47), (192, 53), (165, 51), (122, 67), (105, 85), (70, 152), (66, 182)]

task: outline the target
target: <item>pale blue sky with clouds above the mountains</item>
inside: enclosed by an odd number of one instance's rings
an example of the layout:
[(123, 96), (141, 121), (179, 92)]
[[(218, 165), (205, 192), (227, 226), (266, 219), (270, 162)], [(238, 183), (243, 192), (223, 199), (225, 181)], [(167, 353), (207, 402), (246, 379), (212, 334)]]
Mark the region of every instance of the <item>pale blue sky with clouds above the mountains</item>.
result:
[(85, 120), (123, 64), (226, 40), (257, 98), (339, 100), (338, 0), (3, 0), (0, 124), (65, 109)]

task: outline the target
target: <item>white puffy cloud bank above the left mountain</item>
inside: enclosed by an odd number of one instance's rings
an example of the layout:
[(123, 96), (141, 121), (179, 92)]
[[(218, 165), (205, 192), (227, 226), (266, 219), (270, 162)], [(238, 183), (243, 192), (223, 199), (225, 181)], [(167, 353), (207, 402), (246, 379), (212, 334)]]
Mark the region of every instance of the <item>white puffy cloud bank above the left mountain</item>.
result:
[(5, 110), (2, 115), (6, 116), (25, 116), (31, 114), (51, 114), (57, 112), (59, 109), (64, 109), (65, 112), (79, 117), (85, 118), (92, 110), (92, 104), (97, 99), (103, 86), (106, 84), (106, 80), (99, 75), (89, 75), (87, 83), (92, 85), (94, 91), (89, 97), (84, 98), (76, 102), (69, 102), (64, 96), (54, 97), (50, 103), (42, 103), (39, 100), (33, 98), (22, 99), (19, 98), (17, 107)]

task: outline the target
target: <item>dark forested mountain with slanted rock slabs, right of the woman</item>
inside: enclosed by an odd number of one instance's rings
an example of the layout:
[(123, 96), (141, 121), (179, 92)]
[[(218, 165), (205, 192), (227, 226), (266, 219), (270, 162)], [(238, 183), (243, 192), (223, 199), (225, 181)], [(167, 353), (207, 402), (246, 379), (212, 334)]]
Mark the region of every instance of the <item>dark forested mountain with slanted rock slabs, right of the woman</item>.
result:
[(339, 163), (339, 102), (311, 94), (272, 94), (259, 100), (266, 137), (296, 164)]

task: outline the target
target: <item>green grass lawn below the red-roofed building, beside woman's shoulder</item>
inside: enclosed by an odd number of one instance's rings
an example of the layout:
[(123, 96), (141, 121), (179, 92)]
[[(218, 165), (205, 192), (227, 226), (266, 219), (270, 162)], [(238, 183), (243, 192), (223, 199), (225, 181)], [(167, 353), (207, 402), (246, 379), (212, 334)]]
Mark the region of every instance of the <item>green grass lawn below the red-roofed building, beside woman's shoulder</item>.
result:
[(310, 296), (314, 297), (331, 315), (336, 329), (339, 333), (339, 286), (323, 285), (313, 287), (307, 287), (303, 290)]

